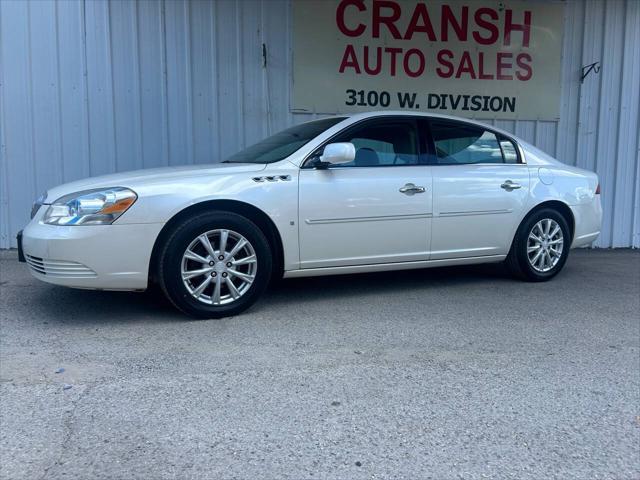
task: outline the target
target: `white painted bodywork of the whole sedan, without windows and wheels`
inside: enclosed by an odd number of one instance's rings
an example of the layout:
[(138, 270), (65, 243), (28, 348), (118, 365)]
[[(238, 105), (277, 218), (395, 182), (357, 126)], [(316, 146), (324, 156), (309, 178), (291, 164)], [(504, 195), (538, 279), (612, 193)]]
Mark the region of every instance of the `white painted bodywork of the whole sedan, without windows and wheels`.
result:
[[(42, 222), (47, 209), (43, 205), (23, 231), (23, 250), (54, 262), (51, 271), (63, 273), (31, 271), (43, 281), (71, 287), (145, 289), (153, 246), (165, 224), (190, 206), (220, 200), (243, 202), (268, 215), (282, 241), (286, 277), (501, 261), (527, 212), (549, 200), (563, 202), (573, 212), (572, 247), (588, 245), (600, 233), (602, 210), (594, 173), (564, 165), (479, 122), (464, 120), (516, 141), (526, 163), (300, 168), (309, 154), (345, 127), (385, 115), (463, 121), (433, 114), (364, 113), (346, 118), (272, 164), (167, 167), (52, 188), (45, 204), (102, 187), (130, 188), (138, 200), (112, 225), (47, 225)], [(521, 188), (501, 189), (507, 180)], [(403, 195), (398, 190), (406, 184), (424, 187), (425, 193)], [(64, 262), (76, 262), (87, 271), (76, 275), (74, 268), (56, 267)]]

